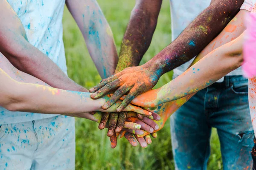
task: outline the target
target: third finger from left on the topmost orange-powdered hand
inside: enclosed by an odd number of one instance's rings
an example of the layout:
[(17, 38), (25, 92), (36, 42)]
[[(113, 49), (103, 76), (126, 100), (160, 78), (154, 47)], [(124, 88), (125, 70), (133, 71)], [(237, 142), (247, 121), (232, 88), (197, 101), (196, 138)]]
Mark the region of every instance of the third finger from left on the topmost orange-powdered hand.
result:
[[(117, 81), (117, 80), (115, 80)], [(113, 104), (116, 103), (116, 101), (119, 100), (119, 98), (128, 92), (132, 87), (128, 87), (127, 85), (122, 85), (120, 88), (118, 88), (113, 95), (111, 95), (110, 99), (102, 106), (103, 109), (108, 109), (110, 108)], [(102, 90), (102, 89), (100, 89)]]

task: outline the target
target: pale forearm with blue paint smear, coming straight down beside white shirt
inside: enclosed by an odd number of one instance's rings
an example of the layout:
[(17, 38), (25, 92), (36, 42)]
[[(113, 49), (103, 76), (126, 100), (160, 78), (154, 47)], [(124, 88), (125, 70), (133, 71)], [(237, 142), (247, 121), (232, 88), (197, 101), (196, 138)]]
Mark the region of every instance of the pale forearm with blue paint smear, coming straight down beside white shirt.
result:
[(66, 0), (76, 20), (90, 56), (102, 79), (114, 74), (117, 64), (116, 45), (110, 26), (96, 0)]

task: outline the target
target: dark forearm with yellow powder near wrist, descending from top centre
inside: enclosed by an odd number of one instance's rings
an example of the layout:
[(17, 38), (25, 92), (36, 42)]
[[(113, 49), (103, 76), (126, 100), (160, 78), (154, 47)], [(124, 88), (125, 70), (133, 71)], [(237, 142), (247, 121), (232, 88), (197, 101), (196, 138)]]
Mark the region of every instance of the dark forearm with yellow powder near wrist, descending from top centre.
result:
[[(117, 72), (137, 66), (151, 43), (162, 0), (137, 0), (122, 40)], [(150, 6), (150, 7), (149, 7)], [(154, 7), (154, 8), (152, 8)]]

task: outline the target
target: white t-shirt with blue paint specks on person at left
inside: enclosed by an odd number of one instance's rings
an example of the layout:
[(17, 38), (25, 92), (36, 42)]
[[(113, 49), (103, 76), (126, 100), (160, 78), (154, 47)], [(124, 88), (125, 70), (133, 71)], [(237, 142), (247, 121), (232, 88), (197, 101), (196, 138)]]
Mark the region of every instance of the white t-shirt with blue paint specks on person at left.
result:
[[(25, 28), (29, 42), (67, 74), (62, 40), (65, 0), (8, 0)], [(45, 119), (56, 115), (11, 112), (0, 107), (0, 125)]]

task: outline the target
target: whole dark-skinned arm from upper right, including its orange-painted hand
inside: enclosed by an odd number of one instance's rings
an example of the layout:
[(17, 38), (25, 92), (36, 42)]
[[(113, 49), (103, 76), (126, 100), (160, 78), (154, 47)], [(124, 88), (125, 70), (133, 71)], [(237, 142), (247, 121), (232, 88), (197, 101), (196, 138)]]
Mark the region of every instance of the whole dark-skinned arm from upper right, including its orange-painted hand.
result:
[(109, 91), (116, 90), (102, 108), (107, 109), (120, 96), (129, 91), (117, 111), (122, 111), (135, 96), (150, 90), (164, 73), (192, 59), (213, 40), (237, 14), (243, 0), (215, 0), (175, 41), (164, 48), (153, 59), (138, 67), (126, 68), (105, 79), (90, 89), (91, 97), (97, 99)]

